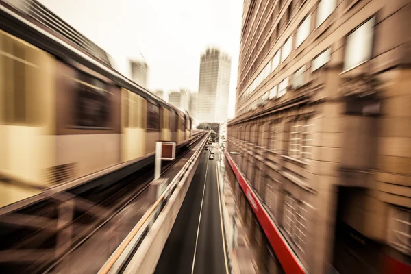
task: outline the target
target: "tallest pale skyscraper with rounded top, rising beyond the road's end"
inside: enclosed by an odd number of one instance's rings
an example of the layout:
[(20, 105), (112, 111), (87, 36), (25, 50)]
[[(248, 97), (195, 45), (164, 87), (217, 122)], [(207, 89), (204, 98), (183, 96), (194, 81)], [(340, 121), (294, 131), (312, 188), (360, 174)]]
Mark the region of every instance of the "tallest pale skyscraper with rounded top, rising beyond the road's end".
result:
[(197, 122), (223, 122), (228, 114), (231, 58), (219, 49), (201, 55)]

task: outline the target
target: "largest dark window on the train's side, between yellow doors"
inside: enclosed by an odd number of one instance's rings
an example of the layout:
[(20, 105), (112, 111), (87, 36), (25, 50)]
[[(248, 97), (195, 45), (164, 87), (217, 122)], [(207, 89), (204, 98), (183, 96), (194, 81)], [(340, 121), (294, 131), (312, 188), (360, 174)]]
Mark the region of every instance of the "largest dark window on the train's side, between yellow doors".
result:
[(108, 85), (99, 79), (78, 73), (76, 98), (76, 126), (87, 129), (108, 127)]

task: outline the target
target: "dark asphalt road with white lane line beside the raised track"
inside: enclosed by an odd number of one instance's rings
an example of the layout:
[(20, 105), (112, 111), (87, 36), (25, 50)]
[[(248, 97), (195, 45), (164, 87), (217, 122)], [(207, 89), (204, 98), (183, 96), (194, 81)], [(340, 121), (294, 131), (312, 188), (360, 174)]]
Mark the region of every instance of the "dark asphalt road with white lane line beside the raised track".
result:
[(219, 192), (214, 148), (201, 154), (182, 208), (171, 229), (155, 273), (227, 273), (223, 245)]

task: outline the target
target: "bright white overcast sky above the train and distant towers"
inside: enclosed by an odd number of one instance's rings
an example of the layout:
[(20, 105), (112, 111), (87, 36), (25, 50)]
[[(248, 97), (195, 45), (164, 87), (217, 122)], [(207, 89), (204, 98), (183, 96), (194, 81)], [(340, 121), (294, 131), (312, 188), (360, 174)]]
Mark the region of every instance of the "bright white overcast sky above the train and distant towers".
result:
[(200, 55), (216, 46), (232, 56), (229, 117), (234, 116), (242, 1), (40, 0), (108, 51), (129, 77), (128, 58), (149, 64), (150, 89), (198, 90)]

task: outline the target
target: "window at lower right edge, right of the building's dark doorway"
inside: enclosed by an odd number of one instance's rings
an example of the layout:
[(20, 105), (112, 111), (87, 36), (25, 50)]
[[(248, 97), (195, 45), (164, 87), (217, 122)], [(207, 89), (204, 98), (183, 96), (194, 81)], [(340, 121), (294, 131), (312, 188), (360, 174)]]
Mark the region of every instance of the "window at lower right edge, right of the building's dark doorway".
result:
[(411, 211), (393, 206), (390, 208), (388, 243), (395, 249), (411, 255)]

